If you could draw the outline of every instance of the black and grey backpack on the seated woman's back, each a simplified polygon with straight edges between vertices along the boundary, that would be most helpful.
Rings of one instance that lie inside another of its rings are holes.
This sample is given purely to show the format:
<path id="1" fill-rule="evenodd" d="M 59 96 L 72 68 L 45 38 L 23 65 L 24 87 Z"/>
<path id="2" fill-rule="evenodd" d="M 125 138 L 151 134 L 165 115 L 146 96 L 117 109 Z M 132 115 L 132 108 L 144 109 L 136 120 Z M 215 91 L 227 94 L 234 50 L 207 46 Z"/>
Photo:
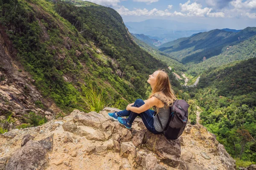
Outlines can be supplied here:
<path id="1" fill-rule="evenodd" d="M 175 100 L 171 107 L 169 121 L 165 129 L 163 129 L 163 125 L 157 114 L 157 119 L 160 122 L 160 125 L 163 129 L 163 134 L 164 136 L 166 136 L 167 139 L 178 139 L 180 135 L 183 133 L 188 122 L 188 108 L 189 104 L 185 102 L 185 100 Z"/>

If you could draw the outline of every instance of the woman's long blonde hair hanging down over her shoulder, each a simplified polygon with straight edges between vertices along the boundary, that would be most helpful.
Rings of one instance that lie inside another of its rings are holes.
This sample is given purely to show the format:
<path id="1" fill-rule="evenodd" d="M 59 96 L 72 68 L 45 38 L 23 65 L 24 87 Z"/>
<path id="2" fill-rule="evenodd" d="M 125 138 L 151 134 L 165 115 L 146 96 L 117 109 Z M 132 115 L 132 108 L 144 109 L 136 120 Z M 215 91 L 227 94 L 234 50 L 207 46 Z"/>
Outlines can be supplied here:
<path id="1" fill-rule="evenodd" d="M 164 70 L 157 70 L 159 72 L 156 80 L 154 89 L 148 97 L 150 99 L 152 96 L 155 96 L 160 101 L 166 104 L 166 107 L 172 106 L 173 102 L 177 99 L 173 90 L 171 83 L 169 81 L 169 76 Z M 164 94 L 162 95 L 161 92 Z M 158 113 L 158 108 L 157 108 Z"/>

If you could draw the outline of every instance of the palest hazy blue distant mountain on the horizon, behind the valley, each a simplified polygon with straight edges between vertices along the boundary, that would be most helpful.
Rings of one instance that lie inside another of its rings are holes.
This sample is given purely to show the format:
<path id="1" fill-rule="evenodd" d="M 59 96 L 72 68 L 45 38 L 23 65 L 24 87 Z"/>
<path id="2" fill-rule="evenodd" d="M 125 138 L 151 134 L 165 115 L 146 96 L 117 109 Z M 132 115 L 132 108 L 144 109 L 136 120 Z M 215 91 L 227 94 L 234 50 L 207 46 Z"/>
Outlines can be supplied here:
<path id="1" fill-rule="evenodd" d="M 197 23 L 180 23 L 172 20 L 145 20 L 142 22 L 127 22 L 126 27 L 131 33 L 144 34 L 160 42 L 170 42 L 181 37 L 209 31 L 212 26 Z"/>

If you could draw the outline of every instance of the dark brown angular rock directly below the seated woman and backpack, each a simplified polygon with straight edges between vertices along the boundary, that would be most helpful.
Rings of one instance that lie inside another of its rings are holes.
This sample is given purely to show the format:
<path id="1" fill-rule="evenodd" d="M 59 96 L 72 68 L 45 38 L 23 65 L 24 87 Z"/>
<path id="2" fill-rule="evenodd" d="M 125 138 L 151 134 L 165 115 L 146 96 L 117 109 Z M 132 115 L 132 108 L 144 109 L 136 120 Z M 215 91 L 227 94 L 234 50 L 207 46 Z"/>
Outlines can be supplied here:
<path id="1" fill-rule="evenodd" d="M 163 134 L 153 134 L 148 130 L 145 133 L 143 143 L 148 150 L 159 156 L 161 162 L 170 167 L 177 167 L 180 164 L 180 140 L 168 140 Z"/>

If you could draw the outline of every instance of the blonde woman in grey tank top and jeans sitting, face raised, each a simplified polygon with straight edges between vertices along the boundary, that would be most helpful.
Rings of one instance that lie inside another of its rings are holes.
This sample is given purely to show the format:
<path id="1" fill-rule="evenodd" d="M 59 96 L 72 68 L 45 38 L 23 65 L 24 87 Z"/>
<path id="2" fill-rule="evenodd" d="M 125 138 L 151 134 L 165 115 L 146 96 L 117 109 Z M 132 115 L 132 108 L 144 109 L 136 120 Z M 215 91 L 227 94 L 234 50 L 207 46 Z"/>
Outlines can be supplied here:
<path id="1" fill-rule="evenodd" d="M 149 75 L 147 82 L 153 90 L 147 100 L 137 99 L 134 103 L 127 105 L 125 110 L 108 113 L 108 115 L 128 129 L 131 128 L 134 119 L 140 116 L 149 131 L 161 133 L 168 123 L 169 106 L 176 100 L 176 96 L 171 88 L 168 74 L 163 70 L 155 71 Z M 149 109 L 151 107 L 154 108 L 154 111 Z M 156 114 L 159 115 L 163 129 Z M 128 118 L 123 119 L 121 116 L 128 116 Z"/>

